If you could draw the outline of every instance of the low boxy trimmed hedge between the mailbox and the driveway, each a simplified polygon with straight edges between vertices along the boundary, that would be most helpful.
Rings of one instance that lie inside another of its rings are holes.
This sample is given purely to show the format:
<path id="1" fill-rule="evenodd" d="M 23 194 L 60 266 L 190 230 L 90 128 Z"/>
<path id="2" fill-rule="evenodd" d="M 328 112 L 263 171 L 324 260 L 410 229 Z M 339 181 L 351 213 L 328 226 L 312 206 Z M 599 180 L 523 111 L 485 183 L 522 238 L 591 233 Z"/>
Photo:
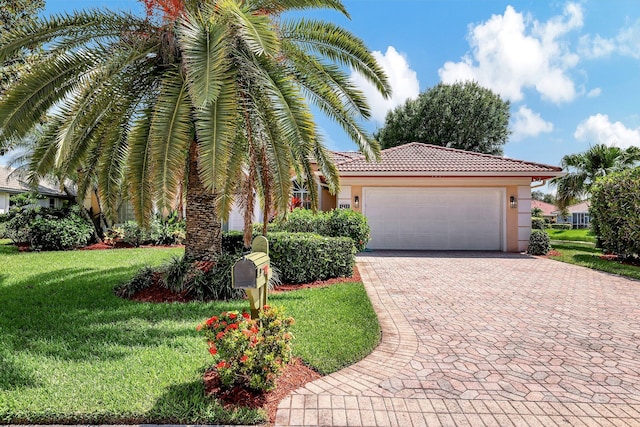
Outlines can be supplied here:
<path id="1" fill-rule="evenodd" d="M 270 233 L 271 264 L 285 283 L 308 283 L 353 274 L 356 249 L 348 237 Z"/>

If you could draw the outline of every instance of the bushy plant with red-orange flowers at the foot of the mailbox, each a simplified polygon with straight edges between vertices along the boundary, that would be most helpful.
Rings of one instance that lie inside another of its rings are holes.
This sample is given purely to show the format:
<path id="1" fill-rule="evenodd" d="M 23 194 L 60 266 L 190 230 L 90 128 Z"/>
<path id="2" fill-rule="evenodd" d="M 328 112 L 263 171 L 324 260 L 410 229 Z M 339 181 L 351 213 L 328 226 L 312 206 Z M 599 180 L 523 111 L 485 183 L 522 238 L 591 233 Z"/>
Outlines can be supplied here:
<path id="1" fill-rule="evenodd" d="M 264 306 L 258 319 L 246 312 L 223 312 L 197 329 L 204 333 L 225 387 L 271 390 L 291 357 L 292 317 L 280 307 Z"/>

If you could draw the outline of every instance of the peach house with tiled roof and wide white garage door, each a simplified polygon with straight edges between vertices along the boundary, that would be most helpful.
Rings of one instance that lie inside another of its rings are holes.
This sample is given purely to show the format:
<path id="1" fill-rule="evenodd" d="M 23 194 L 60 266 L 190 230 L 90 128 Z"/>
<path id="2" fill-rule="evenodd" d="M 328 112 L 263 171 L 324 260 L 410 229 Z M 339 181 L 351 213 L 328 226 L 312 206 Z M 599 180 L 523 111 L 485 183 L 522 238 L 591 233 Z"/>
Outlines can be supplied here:
<path id="1" fill-rule="evenodd" d="M 348 207 L 371 227 L 371 249 L 522 252 L 531 233 L 531 184 L 563 175 L 539 163 L 421 143 L 336 164 L 341 190 L 322 210 Z M 322 177 L 320 184 L 322 185 Z"/>

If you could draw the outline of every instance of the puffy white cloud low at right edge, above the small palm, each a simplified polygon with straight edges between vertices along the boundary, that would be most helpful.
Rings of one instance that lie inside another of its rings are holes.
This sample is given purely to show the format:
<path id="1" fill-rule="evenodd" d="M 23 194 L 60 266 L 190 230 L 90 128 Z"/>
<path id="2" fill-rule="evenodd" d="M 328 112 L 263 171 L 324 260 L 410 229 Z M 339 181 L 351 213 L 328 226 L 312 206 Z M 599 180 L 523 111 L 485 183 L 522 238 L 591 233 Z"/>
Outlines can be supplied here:
<path id="1" fill-rule="evenodd" d="M 573 136 L 590 144 L 640 147 L 640 128 L 630 129 L 621 122 L 611 123 L 606 114 L 596 114 L 580 122 Z"/>

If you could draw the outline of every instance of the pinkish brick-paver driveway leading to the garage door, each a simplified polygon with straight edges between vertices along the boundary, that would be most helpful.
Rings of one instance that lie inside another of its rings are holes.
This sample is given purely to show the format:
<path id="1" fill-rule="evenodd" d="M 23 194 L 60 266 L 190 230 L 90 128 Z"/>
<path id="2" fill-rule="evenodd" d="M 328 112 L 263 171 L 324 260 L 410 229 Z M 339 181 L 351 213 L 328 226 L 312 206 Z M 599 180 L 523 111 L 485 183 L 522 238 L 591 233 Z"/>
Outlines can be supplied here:
<path id="1" fill-rule="evenodd" d="M 383 328 L 277 425 L 640 426 L 640 282 L 501 253 L 358 256 Z"/>

